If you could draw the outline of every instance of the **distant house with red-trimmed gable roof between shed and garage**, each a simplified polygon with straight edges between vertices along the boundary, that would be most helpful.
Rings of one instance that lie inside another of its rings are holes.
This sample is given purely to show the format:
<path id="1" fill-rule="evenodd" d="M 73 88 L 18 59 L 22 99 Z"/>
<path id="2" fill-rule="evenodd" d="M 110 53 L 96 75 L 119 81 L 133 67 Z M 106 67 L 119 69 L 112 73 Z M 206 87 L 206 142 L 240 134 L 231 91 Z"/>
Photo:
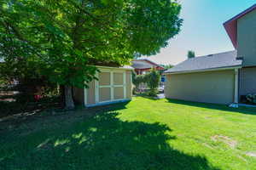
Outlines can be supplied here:
<path id="1" fill-rule="evenodd" d="M 131 63 L 131 66 L 134 68 L 137 75 L 146 74 L 152 68 L 155 68 L 157 71 L 165 70 L 163 66 L 158 65 L 149 59 L 134 59 L 131 61 Z"/>

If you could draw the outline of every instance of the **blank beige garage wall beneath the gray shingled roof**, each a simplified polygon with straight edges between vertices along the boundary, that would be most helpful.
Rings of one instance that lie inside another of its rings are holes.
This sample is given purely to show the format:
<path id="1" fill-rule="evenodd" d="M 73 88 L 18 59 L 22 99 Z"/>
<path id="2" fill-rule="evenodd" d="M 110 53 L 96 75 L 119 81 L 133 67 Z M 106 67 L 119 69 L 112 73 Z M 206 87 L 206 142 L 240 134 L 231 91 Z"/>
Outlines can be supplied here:
<path id="1" fill-rule="evenodd" d="M 207 71 L 166 76 L 166 98 L 204 103 L 234 101 L 235 71 Z"/>

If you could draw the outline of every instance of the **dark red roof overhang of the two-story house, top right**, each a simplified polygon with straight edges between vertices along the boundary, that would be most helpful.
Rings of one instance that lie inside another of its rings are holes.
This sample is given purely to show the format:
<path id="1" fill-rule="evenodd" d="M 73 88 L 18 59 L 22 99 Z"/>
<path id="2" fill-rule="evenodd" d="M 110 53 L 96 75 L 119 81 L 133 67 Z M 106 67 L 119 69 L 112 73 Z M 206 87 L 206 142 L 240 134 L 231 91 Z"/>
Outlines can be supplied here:
<path id="1" fill-rule="evenodd" d="M 237 20 L 243 17 L 244 15 L 252 12 L 254 9 L 256 9 L 256 4 L 254 4 L 250 8 L 247 8 L 245 11 L 241 12 L 240 14 L 237 14 L 235 17 L 224 23 L 224 28 L 228 32 L 231 42 L 233 43 L 235 48 L 237 48 Z"/>

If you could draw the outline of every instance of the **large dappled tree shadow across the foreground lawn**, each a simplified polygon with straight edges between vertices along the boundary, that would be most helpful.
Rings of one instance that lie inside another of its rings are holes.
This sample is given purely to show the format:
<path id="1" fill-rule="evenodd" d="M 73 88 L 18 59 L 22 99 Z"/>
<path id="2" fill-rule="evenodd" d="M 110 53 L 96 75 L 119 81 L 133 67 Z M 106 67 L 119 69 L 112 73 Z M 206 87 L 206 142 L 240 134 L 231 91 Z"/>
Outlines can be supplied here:
<path id="1" fill-rule="evenodd" d="M 175 150 L 172 129 L 160 123 L 124 122 L 119 113 L 104 112 L 85 122 L 34 133 L 0 147 L 3 169 L 166 169 L 212 167 L 204 156 Z"/>

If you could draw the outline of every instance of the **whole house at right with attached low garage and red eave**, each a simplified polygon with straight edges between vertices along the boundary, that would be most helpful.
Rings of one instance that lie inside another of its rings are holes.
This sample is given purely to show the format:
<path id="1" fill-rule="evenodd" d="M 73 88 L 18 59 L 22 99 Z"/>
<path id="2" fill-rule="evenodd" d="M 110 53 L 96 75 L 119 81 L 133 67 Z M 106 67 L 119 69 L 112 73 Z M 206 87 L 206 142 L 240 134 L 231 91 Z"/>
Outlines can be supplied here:
<path id="1" fill-rule="evenodd" d="M 165 71 L 166 98 L 231 104 L 256 94 L 256 4 L 224 28 L 236 50 L 187 59 Z"/>

